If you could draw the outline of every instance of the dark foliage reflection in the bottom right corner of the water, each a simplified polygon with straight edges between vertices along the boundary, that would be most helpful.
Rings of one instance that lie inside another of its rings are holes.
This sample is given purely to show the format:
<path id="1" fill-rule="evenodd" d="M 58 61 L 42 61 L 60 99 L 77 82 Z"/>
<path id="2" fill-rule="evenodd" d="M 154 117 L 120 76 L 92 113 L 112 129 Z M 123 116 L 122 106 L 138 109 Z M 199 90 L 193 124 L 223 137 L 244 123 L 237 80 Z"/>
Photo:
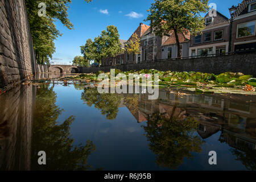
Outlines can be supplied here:
<path id="1" fill-rule="evenodd" d="M 237 149 L 231 149 L 230 151 L 237 157 L 236 160 L 241 160 L 246 169 L 253 171 L 256 170 L 256 152 L 254 150 L 242 152 Z"/>

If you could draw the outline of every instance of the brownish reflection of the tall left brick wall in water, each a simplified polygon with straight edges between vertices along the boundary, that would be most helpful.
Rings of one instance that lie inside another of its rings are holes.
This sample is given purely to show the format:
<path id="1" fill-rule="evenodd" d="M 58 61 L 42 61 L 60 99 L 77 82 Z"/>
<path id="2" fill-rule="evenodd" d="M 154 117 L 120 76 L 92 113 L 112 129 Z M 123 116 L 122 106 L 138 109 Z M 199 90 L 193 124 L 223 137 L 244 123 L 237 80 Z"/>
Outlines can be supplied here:
<path id="1" fill-rule="evenodd" d="M 35 86 L 0 96 L 0 170 L 30 169 Z"/>

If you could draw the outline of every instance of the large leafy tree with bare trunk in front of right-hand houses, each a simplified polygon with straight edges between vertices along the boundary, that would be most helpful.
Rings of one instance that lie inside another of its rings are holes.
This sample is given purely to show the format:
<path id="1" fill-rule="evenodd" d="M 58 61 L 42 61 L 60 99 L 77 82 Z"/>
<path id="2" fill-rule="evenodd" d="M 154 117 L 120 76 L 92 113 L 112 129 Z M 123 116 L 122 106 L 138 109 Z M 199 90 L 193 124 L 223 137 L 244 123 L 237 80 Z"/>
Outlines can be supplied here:
<path id="1" fill-rule="evenodd" d="M 155 0 L 146 20 L 153 20 L 156 35 L 170 35 L 174 31 L 177 43 L 177 56 L 181 57 L 179 34 L 196 35 L 205 28 L 201 13 L 209 10 L 209 0 Z"/>

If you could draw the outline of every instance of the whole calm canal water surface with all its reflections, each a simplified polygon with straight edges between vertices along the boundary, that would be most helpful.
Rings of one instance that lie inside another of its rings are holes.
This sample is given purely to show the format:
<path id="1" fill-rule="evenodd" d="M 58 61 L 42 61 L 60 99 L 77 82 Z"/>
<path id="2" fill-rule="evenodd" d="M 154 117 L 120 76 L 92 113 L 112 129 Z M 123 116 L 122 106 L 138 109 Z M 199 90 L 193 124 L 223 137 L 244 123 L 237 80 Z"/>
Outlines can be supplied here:
<path id="1" fill-rule="evenodd" d="M 0 169 L 255 170 L 256 97 L 160 89 L 148 100 L 75 81 L 17 86 L 0 96 Z"/>

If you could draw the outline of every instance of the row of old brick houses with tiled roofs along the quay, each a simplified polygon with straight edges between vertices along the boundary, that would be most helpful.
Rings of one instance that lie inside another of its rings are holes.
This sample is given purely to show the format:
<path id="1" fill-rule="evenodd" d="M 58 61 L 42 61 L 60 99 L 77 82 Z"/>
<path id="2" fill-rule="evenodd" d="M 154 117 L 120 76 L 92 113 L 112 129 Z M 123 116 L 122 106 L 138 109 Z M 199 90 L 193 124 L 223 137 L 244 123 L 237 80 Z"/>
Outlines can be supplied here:
<path id="1" fill-rule="evenodd" d="M 181 58 L 222 55 L 229 52 L 256 50 L 256 0 L 243 0 L 238 6 L 230 9 L 231 18 L 217 10 L 210 10 L 205 15 L 205 29 L 193 36 L 188 32 L 179 34 Z M 177 58 L 175 34 L 157 36 L 154 28 L 140 23 L 135 34 L 141 40 L 141 53 L 134 55 L 125 51 L 127 42 L 122 40 L 124 53 L 107 57 L 102 66 L 135 64 L 143 61 L 156 61 Z"/>

